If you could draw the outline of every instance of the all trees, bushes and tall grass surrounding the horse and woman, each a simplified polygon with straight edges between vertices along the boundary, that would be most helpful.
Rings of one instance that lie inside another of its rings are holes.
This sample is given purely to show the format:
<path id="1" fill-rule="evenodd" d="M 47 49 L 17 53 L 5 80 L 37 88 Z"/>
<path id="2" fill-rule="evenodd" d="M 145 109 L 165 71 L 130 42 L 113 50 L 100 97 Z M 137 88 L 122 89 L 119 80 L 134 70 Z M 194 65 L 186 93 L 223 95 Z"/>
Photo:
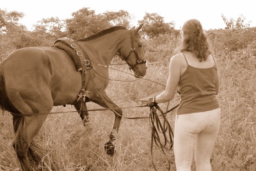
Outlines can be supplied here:
<path id="1" fill-rule="evenodd" d="M 123 25 L 131 27 L 127 11 L 95 14 L 82 8 L 73 18 L 43 18 L 29 31 L 18 23 L 22 12 L 0 9 L 0 61 L 13 50 L 32 46 L 51 46 L 57 38 L 83 38 L 100 30 Z M 221 128 L 211 156 L 212 170 L 256 170 L 255 103 L 256 103 L 256 28 L 244 23 L 245 17 L 227 19 L 225 29 L 207 30 L 220 70 Z M 145 23 L 141 34 L 147 74 L 136 80 L 126 65 L 112 66 L 107 92 L 121 107 L 141 105 L 139 99 L 163 90 L 168 76 L 168 63 L 179 42 L 175 23 L 164 23 L 156 13 L 146 13 L 138 23 Z M 115 57 L 112 63 L 122 63 Z M 117 69 L 117 70 L 114 70 Z M 151 81 L 150 81 L 151 80 Z M 179 103 L 179 95 L 168 109 Z M 166 110 L 167 104 L 161 104 Z M 88 109 L 99 109 L 89 102 Z M 90 122 L 84 127 L 73 106 L 55 106 L 35 140 L 46 149 L 41 170 L 175 170 L 173 149 L 166 151 L 154 146 L 151 155 L 151 126 L 148 119 L 122 119 L 119 134 L 115 134 L 116 153 L 104 152 L 104 143 L 112 131 L 114 114 L 110 111 L 90 112 Z M 12 117 L 0 110 L 0 170 L 20 170 L 11 142 L 14 138 Z M 174 127 L 176 110 L 167 114 Z M 123 110 L 124 117 L 149 116 L 148 107 Z M 196 170 L 193 162 L 192 170 Z"/>

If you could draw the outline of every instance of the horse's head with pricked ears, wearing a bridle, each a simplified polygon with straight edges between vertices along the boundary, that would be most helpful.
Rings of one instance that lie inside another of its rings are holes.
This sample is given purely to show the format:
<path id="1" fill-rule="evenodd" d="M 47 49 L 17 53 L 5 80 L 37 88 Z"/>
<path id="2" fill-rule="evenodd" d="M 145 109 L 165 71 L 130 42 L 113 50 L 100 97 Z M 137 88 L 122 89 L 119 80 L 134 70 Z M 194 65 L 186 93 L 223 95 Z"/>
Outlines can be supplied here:
<path id="1" fill-rule="evenodd" d="M 130 32 L 127 38 L 122 42 L 119 49 L 119 56 L 129 65 L 130 70 L 133 70 L 135 77 L 143 77 L 146 74 L 146 59 L 143 55 L 141 36 L 139 30 L 143 24 L 137 29 L 127 30 Z M 127 33 L 126 33 L 127 34 Z"/>

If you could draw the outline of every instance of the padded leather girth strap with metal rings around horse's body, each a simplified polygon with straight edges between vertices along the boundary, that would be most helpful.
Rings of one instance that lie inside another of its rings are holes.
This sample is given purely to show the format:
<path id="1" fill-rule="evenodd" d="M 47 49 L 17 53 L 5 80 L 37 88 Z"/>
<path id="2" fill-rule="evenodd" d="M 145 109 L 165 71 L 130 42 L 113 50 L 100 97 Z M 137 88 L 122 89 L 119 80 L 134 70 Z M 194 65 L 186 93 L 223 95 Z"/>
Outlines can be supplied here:
<path id="1" fill-rule="evenodd" d="M 54 45 L 52 47 L 56 47 L 67 52 L 73 60 L 76 70 L 81 71 L 82 88 L 78 94 L 77 101 L 82 100 L 85 102 L 89 93 L 86 91 L 86 71 L 93 68 L 88 54 L 71 38 L 60 38 L 53 44 Z"/>

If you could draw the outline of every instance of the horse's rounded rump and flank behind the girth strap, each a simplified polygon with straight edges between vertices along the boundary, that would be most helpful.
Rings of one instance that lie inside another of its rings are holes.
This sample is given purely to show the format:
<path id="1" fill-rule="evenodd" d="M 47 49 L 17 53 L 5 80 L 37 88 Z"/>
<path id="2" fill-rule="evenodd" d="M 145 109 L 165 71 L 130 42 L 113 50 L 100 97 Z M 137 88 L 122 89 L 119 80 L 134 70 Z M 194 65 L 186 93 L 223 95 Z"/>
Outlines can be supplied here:
<path id="1" fill-rule="evenodd" d="M 6 94 L 21 113 L 49 112 L 55 103 L 74 101 L 75 93 L 70 90 L 65 95 L 65 91 L 72 87 L 79 91 L 74 84 L 79 74 L 72 60 L 57 48 L 16 50 L 0 63 L 0 70 Z"/>

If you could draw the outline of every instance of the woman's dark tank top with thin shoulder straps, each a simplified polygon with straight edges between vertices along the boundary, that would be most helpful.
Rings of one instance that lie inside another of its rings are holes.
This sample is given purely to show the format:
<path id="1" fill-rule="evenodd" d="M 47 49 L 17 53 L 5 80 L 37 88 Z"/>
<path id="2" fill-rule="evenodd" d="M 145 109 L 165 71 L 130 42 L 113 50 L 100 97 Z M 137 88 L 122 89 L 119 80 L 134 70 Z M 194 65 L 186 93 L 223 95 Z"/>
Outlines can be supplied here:
<path id="1" fill-rule="evenodd" d="M 182 55 L 187 62 L 187 68 L 180 76 L 178 84 L 181 101 L 177 114 L 205 112 L 220 108 L 215 92 L 216 63 L 210 68 L 195 68 L 188 65 L 185 55 L 183 53 Z"/>

